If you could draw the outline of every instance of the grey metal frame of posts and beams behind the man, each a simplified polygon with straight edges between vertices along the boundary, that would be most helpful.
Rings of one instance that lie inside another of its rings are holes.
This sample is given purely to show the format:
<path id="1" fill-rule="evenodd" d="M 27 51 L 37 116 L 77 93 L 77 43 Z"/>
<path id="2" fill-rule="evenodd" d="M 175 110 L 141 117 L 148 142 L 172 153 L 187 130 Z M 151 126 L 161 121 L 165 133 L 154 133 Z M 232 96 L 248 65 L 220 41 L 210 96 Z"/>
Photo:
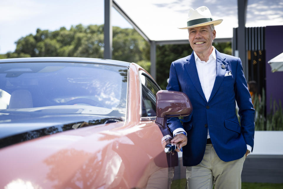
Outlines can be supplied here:
<path id="1" fill-rule="evenodd" d="M 238 55 L 242 59 L 244 74 L 248 80 L 248 64 L 246 63 L 246 48 L 245 48 L 245 24 L 246 24 L 246 9 L 248 0 L 238 0 L 238 32 L 237 41 L 233 41 L 232 38 L 219 38 L 214 42 L 228 42 L 237 43 Z M 149 37 L 135 24 L 135 22 L 121 9 L 121 7 L 114 0 L 104 0 L 104 58 L 112 58 L 112 26 L 111 26 L 111 7 L 114 7 L 132 26 L 133 28 L 150 43 L 150 74 L 156 79 L 156 45 L 165 44 L 189 44 L 189 40 L 150 40 Z M 233 45 L 232 45 L 233 47 Z M 233 52 L 234 53 L 234 52 Z"/>

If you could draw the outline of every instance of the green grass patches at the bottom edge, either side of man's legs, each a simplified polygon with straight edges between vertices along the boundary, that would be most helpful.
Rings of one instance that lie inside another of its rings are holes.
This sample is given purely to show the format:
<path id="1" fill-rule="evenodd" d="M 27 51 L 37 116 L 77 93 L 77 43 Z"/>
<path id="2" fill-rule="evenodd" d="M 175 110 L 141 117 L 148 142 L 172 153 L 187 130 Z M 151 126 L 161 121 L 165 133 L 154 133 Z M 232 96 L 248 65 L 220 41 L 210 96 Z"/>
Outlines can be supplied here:
<path id="1" fill-rule="evenodd" d="M 186 179 L 173 180 L 171 189 L 185 188 Z M 242 189 L 283 189 L 283 183 L 242 183 Z"/>

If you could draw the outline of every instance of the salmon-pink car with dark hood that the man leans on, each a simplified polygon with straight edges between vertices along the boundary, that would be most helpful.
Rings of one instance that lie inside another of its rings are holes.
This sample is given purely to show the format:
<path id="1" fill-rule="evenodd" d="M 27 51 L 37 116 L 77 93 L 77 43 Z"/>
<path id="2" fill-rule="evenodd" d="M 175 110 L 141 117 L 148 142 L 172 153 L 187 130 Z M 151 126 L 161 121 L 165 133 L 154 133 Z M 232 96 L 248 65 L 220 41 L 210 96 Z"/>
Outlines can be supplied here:
<path id="1" fill-rule="evenodd" d="M 192 107 L 159 90 L 135 63 L 1 59 L 0 188 L 170 188 L 166 118 Z"/>

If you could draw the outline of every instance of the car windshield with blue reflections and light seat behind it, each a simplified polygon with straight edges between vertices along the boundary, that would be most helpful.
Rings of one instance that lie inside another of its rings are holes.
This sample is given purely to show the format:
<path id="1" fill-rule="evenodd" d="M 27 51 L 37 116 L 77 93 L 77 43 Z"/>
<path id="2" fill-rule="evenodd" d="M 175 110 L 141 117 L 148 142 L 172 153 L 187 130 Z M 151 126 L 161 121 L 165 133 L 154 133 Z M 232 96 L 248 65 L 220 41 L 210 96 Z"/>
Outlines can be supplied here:
<path id="1" fill-rule="evenodd" d="M 0 109 L 125 118 L 128 68 L 71 62 L 0 64 Z"/>

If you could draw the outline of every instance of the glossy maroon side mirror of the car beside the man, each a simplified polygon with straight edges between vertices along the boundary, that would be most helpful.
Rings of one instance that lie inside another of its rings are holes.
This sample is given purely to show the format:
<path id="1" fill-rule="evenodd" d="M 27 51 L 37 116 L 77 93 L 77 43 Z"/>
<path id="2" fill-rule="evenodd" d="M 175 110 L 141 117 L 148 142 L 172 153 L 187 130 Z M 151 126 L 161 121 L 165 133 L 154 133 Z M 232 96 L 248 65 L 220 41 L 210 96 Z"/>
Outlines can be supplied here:
<path id="1" fill-rule="evenodd" d="M 192 104 L 187 94 L 160 90 L 156 93 L 155 122 L 167 128 L 167 117 L 187 116 L 192 113 Z"/>

